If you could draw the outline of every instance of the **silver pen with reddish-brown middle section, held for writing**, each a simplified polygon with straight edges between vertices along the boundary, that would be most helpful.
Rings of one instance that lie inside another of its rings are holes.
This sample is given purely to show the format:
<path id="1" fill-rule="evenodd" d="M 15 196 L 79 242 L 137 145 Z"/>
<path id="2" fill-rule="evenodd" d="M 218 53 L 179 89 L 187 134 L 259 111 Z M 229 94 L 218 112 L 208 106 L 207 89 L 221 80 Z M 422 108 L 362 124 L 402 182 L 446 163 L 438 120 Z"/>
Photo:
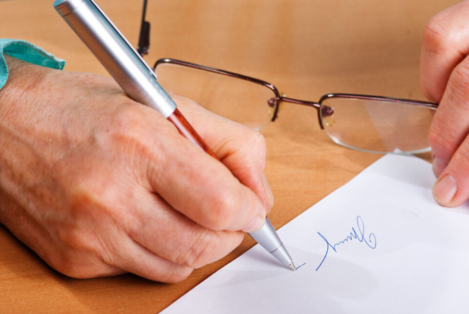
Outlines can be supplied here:
<path id="1" fill-rule="evenodd" d="M 117 27 L 93 0 L 55 0 L 54 8 L 83 40 L 107 72 L 129 98 L 147 105 L 169 119 L 179 132 L 216 158 L 192 126 L 177 110 L 176 103 L 156 81 L 149 65 L 130 45 Z M 292 257 L 269 219 L 264 226 L 249 234 L 283 265 L 296 270 Z"/>

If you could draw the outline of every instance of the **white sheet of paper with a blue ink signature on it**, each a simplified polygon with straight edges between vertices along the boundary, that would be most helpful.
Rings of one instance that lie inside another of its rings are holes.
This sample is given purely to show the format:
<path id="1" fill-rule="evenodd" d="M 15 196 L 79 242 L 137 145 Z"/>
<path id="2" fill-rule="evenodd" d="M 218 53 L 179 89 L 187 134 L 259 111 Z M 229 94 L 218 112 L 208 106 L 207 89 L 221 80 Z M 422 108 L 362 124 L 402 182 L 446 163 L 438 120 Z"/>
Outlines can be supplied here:
<path id="1" fill-rule="evenodd" d="M 384 156 L 278 230 L 297 271 L 256 245 L 164 313 L 468 313 L 469 206 L 437 205 L 434 181 Z"/>

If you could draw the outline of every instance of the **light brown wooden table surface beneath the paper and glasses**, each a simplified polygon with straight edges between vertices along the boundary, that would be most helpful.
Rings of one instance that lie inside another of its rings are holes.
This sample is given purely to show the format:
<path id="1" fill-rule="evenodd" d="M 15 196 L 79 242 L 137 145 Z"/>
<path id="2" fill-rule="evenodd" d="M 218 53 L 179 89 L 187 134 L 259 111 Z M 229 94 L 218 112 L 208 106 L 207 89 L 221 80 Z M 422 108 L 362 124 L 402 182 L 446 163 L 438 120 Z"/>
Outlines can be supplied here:
<path id="1" fill-rule="evenodd" d="M 97 0 L 135 45 L 142 2 Z M 456 2 L 149 0 L 152 32 L 145 59 L 182 59 L 243 73 L 272 82 L 293 98 L 318 100 L 344 92 L 424 99 L 422 30 L 429 18 Z M 43 47 L 65 59 L 67 71 L 107 75 L 52 3 L 0 1 L 1 37 Z M 275 228 L 381 157 L 334 144 L 320 129 L 316 111 L 294 104 L 286 104 L 262 133 Z M 83 280 L 52 270 L 0 224 L 0 312 L 159 312 L 253 245 L 246 236 L 230 255 L 179 284 L 135 275 Z"/>

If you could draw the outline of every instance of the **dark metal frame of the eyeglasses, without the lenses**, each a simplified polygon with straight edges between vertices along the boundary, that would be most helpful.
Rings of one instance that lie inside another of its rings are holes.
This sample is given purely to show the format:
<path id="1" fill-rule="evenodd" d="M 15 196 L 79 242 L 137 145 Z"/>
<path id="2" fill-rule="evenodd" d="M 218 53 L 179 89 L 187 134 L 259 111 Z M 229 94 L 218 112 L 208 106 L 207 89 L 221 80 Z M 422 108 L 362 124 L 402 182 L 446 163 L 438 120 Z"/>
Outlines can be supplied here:
<path id="1" fill-rule="evenodd" d="M 144 0 L 142 24 L 140 28 L 140 37 L 139 37 L 139 44 L 138 44 L 138 49 L 137 49 L 138 53 L 140 53 L 142 57 L 148 54 L 148 50 L 149 50 L 150 24 L 148 21 L 145 20 L 146 9 L 147 9 L 147 0 Z M 271 118 L 272 122 L 277 119 L 277 114 L 278 114 L 278 110 L 280 107 L 280 103 L 289 102 L 289 103 L 295 103 L 295 104 L 300 104 L 300 105 L 305 105 L 305 106 L 316 108 L 318 111 L 318 120 L 319 120 L 320 127 L 321 129 L 324 129 L 321 116 L 327 117 L 333 114 L 333 109 L 331 107 L 328 107 L 322 104 L 322 102 L 328 98 L 353 98 L 353 99 L 362 99 L 362 100 L 377 100 L 377 101 L 385 101 L 385 102 L 393 102 L 393 103 L 405 103 L 405 104 L 422 106 L 422 107 L 427 107 L 427 108 L 432 108 L 432 109 L 438 108 L 438 103 L 422 101 L 422 100 L 392 98 L 392 97 L 372 96 L 372 95 L 360 95 L 360 94 L 343 94 L 343 93 L 331 93 L 331 94 L 323 95 L 318 102 L 300 100 L 296 98 L 289 98 L 289 97 L 286 97 L 285 95 L 280 95 L 277 87 L 275 87 L 273 84 L 269 82 L 266 82 L 258 78 L 252 78 L 252 77 L 245 76 L 242 74 L 237 74 L 237 73 L 230 72 L 230 71 L 220 70 L 217 68 L 212 68 L 212 67 L 208 67 L 205 65 L 195 64 L 195 63 L 176 60 L 176 59 L 163 58 L 163 59 L 157 60 L 153 66 L 153 71 L 155 71 L 156 67 L 159 64 L 163 64 L 163 63 L 176 64 L 176 65 L 186 66 L 186 67 L 204 70 L 204 71 L 208 71 L 212 73 L 217 73 L 221 75 L 226 75 L 232 78 L 239 78 L 239 79 L 247 80 L 252 83 L 259 84 L 259 85 L 269 88 L 275 94 L 275 98 L 268 99 L 269 106 L 274 108 L 274 114 Z"/>

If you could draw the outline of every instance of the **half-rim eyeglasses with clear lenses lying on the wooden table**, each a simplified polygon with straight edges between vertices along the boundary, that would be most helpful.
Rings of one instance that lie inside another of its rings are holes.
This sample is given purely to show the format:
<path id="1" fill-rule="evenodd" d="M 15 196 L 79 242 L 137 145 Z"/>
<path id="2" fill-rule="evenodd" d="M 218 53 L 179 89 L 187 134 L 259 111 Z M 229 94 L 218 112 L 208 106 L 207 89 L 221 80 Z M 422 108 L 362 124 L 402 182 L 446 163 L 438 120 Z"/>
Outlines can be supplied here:
<path id="1" fill-rule="evenodd" d="M 144 0 L 138 52 L 149 49 Z M 158 82 L 170 94 L 257 130 L 275 121 L 285 103 L 313 107 L 321 129 L 337 144 L 371 153 L 430 151 L 427 134 L 437 103 L 355 94 L 326 94 L 319 101 L 286 97 L 266 81 L 175 59 L 154 64 Z"/>

